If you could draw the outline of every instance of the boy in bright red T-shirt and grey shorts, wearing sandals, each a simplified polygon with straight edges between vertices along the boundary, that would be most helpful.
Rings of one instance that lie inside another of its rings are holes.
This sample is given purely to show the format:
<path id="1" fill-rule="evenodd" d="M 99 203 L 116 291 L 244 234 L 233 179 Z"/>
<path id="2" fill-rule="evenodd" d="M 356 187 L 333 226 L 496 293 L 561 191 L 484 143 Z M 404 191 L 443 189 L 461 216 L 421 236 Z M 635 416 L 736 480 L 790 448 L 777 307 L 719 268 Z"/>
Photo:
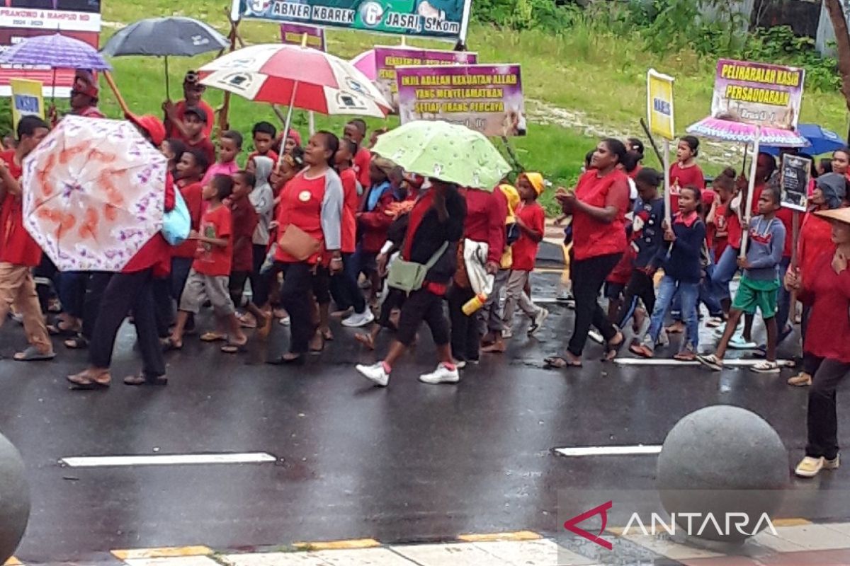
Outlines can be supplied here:
<path id="1" fill-rule="evenodd" d="M 216 175 L 204 185 L 203 198 L 209 205 L 201 217 L 200 233 L 193 230 L 189 237 L 198 243 L 195 261 L 189 273 L 189 280 L 177 314 L 177 323 L 171 335 L 171 347 L 179 350 L 183 347 L 183 333 L 189 314 L 198 314 L 204 296 L 212 302 L 218 324 L 228 328 L 228 332 L 207 332 L 201 335 L 205 342 L 227 339 L 222 347 L 227 353 L 244 350 L 248 341 L 236 320 L 236 310 L 230 300 L 228 279 L 233 261 L 233 221 L 230 210 L 224 205 L 224 199 L 233 193 L 233 179 L 226 175 Z"/>

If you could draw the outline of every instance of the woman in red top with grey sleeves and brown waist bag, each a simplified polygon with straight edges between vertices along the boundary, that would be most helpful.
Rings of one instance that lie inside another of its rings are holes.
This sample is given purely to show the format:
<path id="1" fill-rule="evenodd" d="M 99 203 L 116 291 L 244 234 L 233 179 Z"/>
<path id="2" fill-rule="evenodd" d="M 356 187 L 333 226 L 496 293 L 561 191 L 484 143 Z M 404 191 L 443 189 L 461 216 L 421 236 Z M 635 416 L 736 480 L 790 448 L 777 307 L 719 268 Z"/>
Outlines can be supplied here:
<path id="1" fill-rule="evenodd" d="M 304 362 L 309 350 L 310 338 L 314 335 L 311 320 L 313 311 L 307 298 L 311 291 L 326 294 L 326 287 L 316 286 L 315 273 L 323 261 L 327 262 L 331 274 L 343 270 L 342 218 L 343 184 L 333 170 L 334 156 L 339 149 L 339 139 L 331 132 L 316 132 L 304 149 L 303 171 L 299 172 L 280 192 L 280 207 L 277 217 L 278 246 L 275 250 L 275 265 L 284 274 L 280 302 L 289 313 L 291 338 L 289 351 L 269 363 L 298 364 Z M 312 238 L 315 251 L 306 258 L 296 256 L 297 249 L 284 249 L 280 245 L 286 239 L 286 230 L 295 227 L 299 236 Z M 323 287 L 323 289 L 319 289 Z M 321 304 L 325 300 L 316 296 Z M 328 300 L 330 298 L 328 297 Z"/>

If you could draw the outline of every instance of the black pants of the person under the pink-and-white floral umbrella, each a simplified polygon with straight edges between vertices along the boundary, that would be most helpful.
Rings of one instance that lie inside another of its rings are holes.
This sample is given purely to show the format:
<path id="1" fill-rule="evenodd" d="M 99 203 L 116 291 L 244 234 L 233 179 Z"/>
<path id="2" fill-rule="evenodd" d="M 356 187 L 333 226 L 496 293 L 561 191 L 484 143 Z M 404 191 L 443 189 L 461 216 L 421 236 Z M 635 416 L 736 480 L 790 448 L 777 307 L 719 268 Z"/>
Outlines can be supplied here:
<path id="1" fill-rule="evenodd" d="M 100 301 L 100 313 L 94 324 L 88 362 L 94 367 L 110 367 L 118 328 L 133 309 L 144 377 L 165 375 L 162 347 L 156 333 L 154 314 L 153 270 L 114 274 Z"/>

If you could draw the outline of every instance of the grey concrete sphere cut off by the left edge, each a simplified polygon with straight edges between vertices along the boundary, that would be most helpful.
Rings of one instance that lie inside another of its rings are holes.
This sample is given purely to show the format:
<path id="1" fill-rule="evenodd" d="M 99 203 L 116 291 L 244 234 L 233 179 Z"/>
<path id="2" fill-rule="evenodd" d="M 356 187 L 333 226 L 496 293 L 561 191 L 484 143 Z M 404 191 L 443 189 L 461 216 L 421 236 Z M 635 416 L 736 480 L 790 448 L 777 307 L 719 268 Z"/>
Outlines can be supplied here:
<path id="1" fill-rule="evenodd" d="M 0 434 L 0 564 L 18 548 L 30 519 L 30 486 L 24 461 Z"/>

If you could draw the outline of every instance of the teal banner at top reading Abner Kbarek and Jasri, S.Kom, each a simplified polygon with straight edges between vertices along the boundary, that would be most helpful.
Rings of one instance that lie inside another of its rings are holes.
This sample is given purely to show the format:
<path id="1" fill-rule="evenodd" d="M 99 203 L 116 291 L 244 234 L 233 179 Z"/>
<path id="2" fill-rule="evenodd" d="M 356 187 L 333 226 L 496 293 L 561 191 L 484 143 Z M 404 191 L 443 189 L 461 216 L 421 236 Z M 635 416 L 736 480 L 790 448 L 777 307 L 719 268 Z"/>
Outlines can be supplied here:
<path id="1" fill-rule="evenodd" d="M 286 21 L 405 36 L 462 39 L 472 0 L 233 0 L 233 20 Z"/>

